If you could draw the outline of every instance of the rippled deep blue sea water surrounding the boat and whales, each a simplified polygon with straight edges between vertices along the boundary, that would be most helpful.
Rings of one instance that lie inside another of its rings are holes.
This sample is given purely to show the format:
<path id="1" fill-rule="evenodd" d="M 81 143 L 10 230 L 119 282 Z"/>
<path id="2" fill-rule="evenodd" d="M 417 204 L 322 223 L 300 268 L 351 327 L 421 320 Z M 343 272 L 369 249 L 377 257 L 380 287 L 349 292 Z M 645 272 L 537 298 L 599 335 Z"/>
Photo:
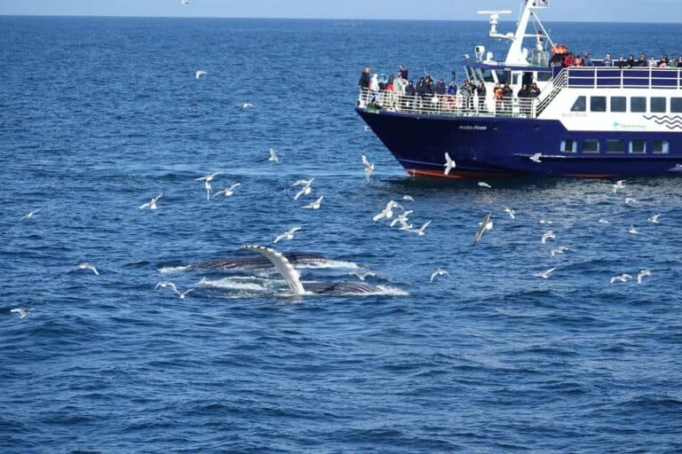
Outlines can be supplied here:
<path id="1" fill-rule="evenodd" d="M 550 28 L 596 57 L 682 52 L 678 25 Z M 448 77 L 487 30 L 0 17 L 0 451 L 682 451 L 680 180 L 412 179 L 353 112 L 361 67 Z M 207 202 L 195 178 L 216 171 L 242 186 Z M 423 237 L 372 222 L 405 194 Z M 275 247 L 388 290 L 294 299 L 275 273 L 169 272 L 294 226 Z"/>

